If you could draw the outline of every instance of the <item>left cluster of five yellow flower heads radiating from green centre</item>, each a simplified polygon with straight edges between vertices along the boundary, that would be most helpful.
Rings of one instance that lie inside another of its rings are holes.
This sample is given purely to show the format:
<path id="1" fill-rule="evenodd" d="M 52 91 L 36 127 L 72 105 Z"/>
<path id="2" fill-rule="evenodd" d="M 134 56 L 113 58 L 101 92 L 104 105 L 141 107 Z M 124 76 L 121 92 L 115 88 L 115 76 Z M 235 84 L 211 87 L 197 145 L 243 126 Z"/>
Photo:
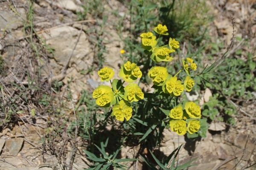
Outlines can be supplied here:
<path id="1" fill-rule="evenodd" d="M 108 82 L 114 76 L 114 71 L 112 68 L 102 68 L 98 71 L 98 75 L 101 81 Z M 117 86 L 117 79 L 114 79 L 115 85 L 111 82 L 112 88 L 106 85 L 99 85 L 93 91 L 93 98 L 96 99 L 96 104 L 101 107 L 110 107 L 113 105 L 111 116 L 119 121 L 124 121 L 124 118 L 128 121 L 132 116 L 132 108 L 128 102 L 138 102 L 141 99 L 144 99 L 144 93 L 140 87 L 132 83 L 138 78 L 142 77 L 142 72 L 140 68 L 131 62 L 126 62 L 121 66 L 119 72 L 119 77 L 123 78 L 123 82 L 128 82 L 125 88 L 119 84 Z M 121 80 L 120 80 L 121 81 Z"/>

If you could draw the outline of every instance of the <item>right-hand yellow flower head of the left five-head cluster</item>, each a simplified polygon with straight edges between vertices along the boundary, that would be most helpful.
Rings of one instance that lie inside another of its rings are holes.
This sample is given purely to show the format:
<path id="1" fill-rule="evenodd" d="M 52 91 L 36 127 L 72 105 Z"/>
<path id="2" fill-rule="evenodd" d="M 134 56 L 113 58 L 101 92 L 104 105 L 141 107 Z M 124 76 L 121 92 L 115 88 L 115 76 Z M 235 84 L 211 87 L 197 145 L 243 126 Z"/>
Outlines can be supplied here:
<path id="1" fill-rule="evenodd" d="M 144 99 L 144 94 L 137 84 L 130 83 L 125 87 L 123 99 L 128 102 L 138 102 L 140 99 Z"/>

